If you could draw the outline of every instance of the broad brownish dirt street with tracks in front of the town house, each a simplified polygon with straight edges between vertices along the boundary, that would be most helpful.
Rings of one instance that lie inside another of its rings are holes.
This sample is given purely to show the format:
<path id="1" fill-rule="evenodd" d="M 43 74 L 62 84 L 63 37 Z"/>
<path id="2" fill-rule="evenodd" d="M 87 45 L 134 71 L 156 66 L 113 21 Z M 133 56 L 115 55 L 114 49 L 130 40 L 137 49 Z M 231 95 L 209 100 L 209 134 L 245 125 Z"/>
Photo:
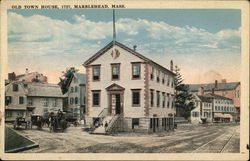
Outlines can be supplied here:
<path id="1" fill-rule="evenodd" d="M 120 133 L 93 135 L 82 127 L 69 127 L 64 133 L 19 130 L 39 148 L 24 153 L 239 153 L 239 125 L 179 125 L 175 132 L 157 134 Z"/>

